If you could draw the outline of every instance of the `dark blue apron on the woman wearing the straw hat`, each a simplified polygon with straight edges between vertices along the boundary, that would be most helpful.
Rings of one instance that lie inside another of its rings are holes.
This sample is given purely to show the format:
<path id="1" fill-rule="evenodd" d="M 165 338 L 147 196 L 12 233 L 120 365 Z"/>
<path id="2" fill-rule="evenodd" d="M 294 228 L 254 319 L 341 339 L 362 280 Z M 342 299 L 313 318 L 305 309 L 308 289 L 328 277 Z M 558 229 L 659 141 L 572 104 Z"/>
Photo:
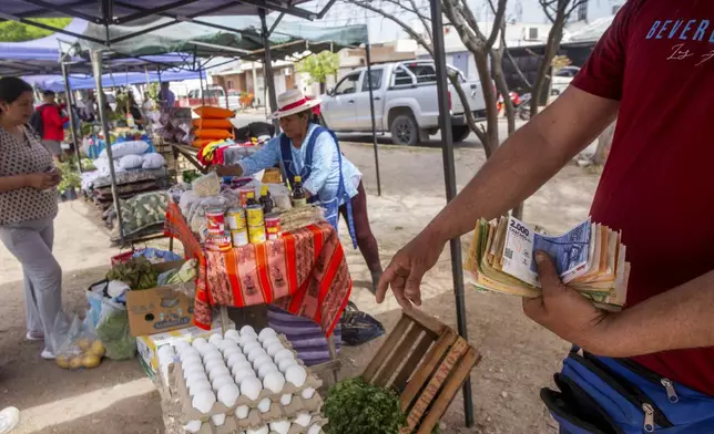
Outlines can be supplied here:
<path id="1" fill-rule="evenodd" d="M 300 176 L 304 180 L 308 179 L 310 173 L 313 172 L 313 153 L 315 151 L 315 143 L 317 142 L 317 137 L 324 133 L 330 134 L 335 140 L 335 145 L 337 146 L 337 161 L 339 164 L 339 186 L 337 187 L 337 195 L 334 198 L 323 198 L 318 192 L 318 194 L 313 195 L 309 198 L 309 203 L 318 203 L 325 209 L 325 218 L 327 219 L 327 221 L 333 225 L 335 230 L 338 230 L 339 202 L 340 199 L 344 200 L 347 207 L 347 227 L 349 229 L 349 236 L 353 239 L 353 247 L 357 248 L 357 237 L 355 236 L 355 220 L 353 218 L 353 200 L 345 189 L 345 179 L 343 177 L 343 153 L 339 149 L 339 142 L 337 141 L 335 133 L 322 126 L 315 128 L 315 131 L 310 135 L 310 138 L 307 141 L 305 164 L 303 165 L 303 169 L 299 173 L 295 172 L 293 153 L 290 151 L 290 147 L 293 146 L 290 144 L 290 140 L 285 135 L 285 133 L 280 134 L 280 159 L 283 161 L 283 167 L 287 176 L 287 182 L 290 185 L 290 189 L 295 187 L 295 176 Z"/>

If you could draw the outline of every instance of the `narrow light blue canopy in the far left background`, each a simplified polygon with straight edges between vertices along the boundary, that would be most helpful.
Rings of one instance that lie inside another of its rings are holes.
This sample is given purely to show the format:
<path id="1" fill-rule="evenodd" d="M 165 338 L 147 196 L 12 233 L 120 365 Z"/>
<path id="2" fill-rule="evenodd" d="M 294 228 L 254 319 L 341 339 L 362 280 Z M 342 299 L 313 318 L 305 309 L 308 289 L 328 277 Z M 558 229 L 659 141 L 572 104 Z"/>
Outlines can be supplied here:
<path id="1" fill-rule="evenodd" d="M 70 89 L 73 91 L 82 89 L 94 89 L 96 82 L 93 76 L 70 76 Z M 120 87 L 130 84 L 145 84 L 157 83 L 160 81 L 184 81 L 184 80 L 198 80 L 206 79 L 205 72 L 193 71 L 162 71 L 161 75 L 156 72 L 130 72 L 130 73 L 113 73 L 102 75 L 102 85 L 104 87 Z M 40 75 L 29 76 L 26 81 L 34 84 L 42 90 L 54 92 L 64 92 L 64 80 L 61 75 Z"/>

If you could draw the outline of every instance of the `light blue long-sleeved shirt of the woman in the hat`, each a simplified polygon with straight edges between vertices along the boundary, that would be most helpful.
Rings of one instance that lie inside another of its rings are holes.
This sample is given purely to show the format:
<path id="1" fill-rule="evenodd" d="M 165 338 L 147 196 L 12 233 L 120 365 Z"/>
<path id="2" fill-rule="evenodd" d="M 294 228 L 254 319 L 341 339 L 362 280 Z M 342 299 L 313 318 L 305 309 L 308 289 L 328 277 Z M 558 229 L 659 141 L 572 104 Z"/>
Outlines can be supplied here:
<path id="1" fill-rule="evenodd" d="M 307 144 L 312 134 L 318 125 L 310 124 L 303 144 Z M 292 143 L 293 141 L 290 141 Z M 305 153 L 307 146 L 296 148 L 290 146 L 295 173 L 300 173 L 305 165 Z M 248 176 L 264 168 L 274 167 L 280 161 L 280 137 L 271 138 L 261 151 L 249 157 L 241 159 L 237 164 L 243 168 L 243 174 Z M 345 192 L 351 198 L 357 195 L 357 186 L 361 179 L 361 172 L 343 155 L 343 177 L 345 179 Z M 303 182 L 303 187 L 312 195 L 318 195 L 320 200 L 332 200 L 337 196 L 339 186 L 339 159 L 337 144 L 332 135 L 323 133 L 315 142 L 313 155 L 313 167 L 309 178 Z M 340 200 L 340 205 L 344 200 Z"/>

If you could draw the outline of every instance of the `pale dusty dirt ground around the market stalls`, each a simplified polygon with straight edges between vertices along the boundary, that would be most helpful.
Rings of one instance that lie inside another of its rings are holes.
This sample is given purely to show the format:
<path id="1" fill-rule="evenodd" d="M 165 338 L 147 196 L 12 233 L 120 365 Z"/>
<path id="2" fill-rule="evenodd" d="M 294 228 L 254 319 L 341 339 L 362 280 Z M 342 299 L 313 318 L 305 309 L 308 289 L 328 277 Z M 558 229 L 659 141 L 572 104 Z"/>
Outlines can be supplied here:
<path id="1" fill-rule="evenodd" d="M 380 146 L 379 197 L 371 146 L 344 144 L 343 148 L 364 172 L 370 221 L 386 265 L 445 205 L 441 151 Z M 456 159 L 462 187 L 484 157 L 481 149 L 469 146 L 457 149 Z M 568 229 L 586 218 L 596 182 L 595 175 L 565 167 L 527 202 L 526 220 L 551 232 Z M 118 252 L 109 247 L 106 232 L 93 215 L 88 205 L 75 202 L 62 204 L 55 220 L 55 256 L 64 270 L 64 307 L 72 312 L 86 309 L 83 292 L 103 278 L 109 258 Z M 463 248 L 468 239 L 465 241 Z M 347 255 L 355 280 L 353 301 L 391 329 L 400 316 L 397 303 L 388 299 L 377 306 L 367 291 L 369 273 L 359 252 L 348 249 Z M 104 361 L 95 370 L 68 372 L 41 360 L 41 344 L 24 341 L 21 270 L 1 246 L 0 276 L 0 407 L 14 405 L 22 411 L 18 434 L 163 432 L 159 394 L 136 361 Z M 450 326 L 456 324 L 452 288 L 447 249 L 424 282 L 424 309 Z M 472 373 L 477 425 L 465 427 L 459 396 L 443 417 L 441 432 L 554 432 L 539 391 L 550 384 L 568 344 L 524 318 L 519 299 L 467 288 L 466 303 L 469 341 L 483 355 Z M 346 349 L 340 355 L 345 364 L 341 375 L 360 373 L 381 341 Z"/>

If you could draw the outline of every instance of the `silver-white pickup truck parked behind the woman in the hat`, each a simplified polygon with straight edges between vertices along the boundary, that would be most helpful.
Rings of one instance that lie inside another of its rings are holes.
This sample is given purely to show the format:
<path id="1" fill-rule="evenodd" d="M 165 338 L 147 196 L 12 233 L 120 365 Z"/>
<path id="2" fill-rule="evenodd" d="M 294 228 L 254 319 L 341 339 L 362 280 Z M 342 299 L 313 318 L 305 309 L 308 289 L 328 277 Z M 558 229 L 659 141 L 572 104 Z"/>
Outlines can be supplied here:
<path id="1" fill-rule="evenodd" d="M 476 118 L 486 117 L 481 83 L 467 82 L 459 70 L 449 69 L 458 74 Z M 378 64 L 371 68 L 371 76 L 377 132 L 391 133 L 391 141 L 397 145 L 416 145 L 439 131 L 434 61 Z M 322 122 L 330 130 L 339 133 L 371 132 L 366 68 L 345 75 L 320 99 Z M 461 100 L 451 85 L 449 101 L 453 141 L 462 142 L 471 131 Z"/>

